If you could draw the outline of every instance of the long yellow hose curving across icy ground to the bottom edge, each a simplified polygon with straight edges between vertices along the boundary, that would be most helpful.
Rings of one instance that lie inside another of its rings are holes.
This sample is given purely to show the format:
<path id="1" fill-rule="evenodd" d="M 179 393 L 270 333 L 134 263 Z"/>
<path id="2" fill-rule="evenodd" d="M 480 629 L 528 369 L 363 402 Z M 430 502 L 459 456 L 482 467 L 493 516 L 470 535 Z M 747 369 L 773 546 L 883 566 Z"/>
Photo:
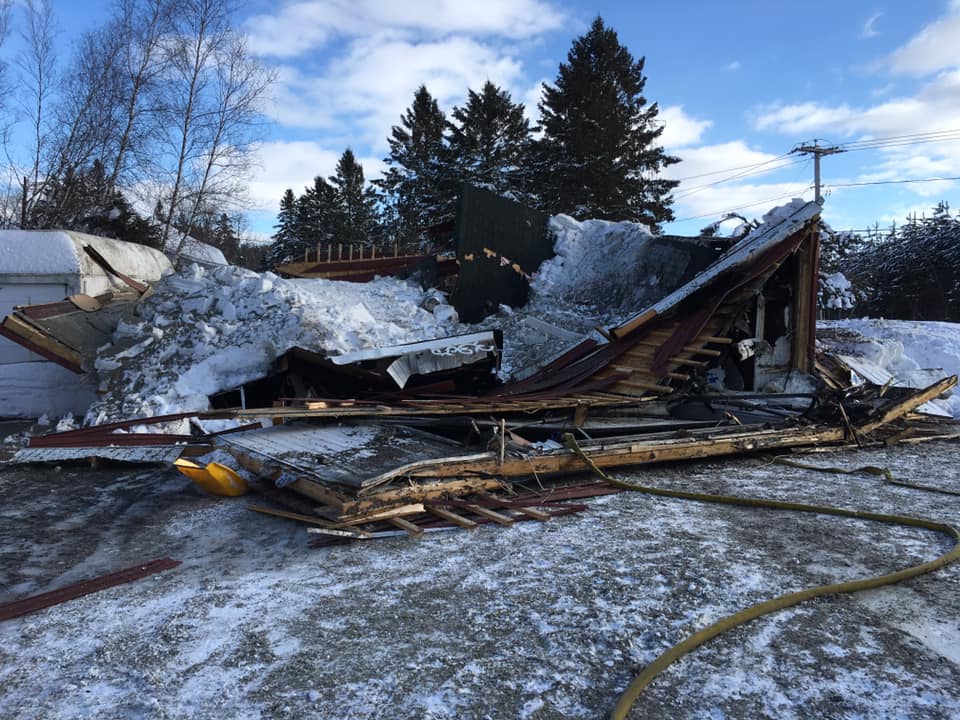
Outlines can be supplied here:
<path id="1" fill-rule="evenodd" d="M 671 663 L 683 657 L 690 651 L 700 647 L 708 640 L 712 640 L 717 635 L 726 632 L 727 630 L 735 628 L 739 625 L 743 625 L 750 620 L 755 620 L 763 615 L 797 605 L 804 600 L 812 600 L 813 598 L 821 597 L 823 595 L 852 593 L 859 590 L 869 590 L 872 588 L 881 587 L 883 585 L 891 585 L 893 583 L 900 582 L 901 580 L 907 580 L 918 575 L 923 575 L 924 573 L 932 572 L 960 558 L 960 530 L 957 530 L 957 528 L 954 526 L 946 523 L 935 522 L 933 520 L 924 520 L 922 518 L 913 518 L 905 515 L 887 515 L 882 513 L 863 512 L 859 510 L 844 510 L 842 508 L 829 506 L 783 502 L 779 500 L 761 500 L 759 498 L 744 498 L 730 495 L 709 495 L 705 493 L 684 492 L 681 490 L 665 490 L 646 485 L 634 485 L 632 483 L 627 483 L 623 482 L 622 480 L 612 478 L 603 472 L 603 470 L 597 467 L 597 465 L 583 452 L 580 446 L 577 445 L 577 441 L 573 435 L 565 435 L 564 440 L 566 441 L 567 446 L 576 452 L 588 465 L 590 465 L 595 473 L 597 473 L 600 477 L 614 487 L 622 488 L 624 490 L 632 490 L 635 492 L 658 495 L 661 497 L 680 498 L 683 500 L 697 500 L 700 502 L 712 502 L 723 505 L 736 505 L 740 507 L 793 510 L 795 512 L 836 515 L 838 517 L 849 517 L 857 520 L 873 520 L 875 522 L 906 525 L 908 527 L 919 527 L 926 530 L 933 530 L 935 532 L 943 533 L 951 537 L 954 541 L 953 547 L 948 552 L 934 560 L 930 560 L 919 565 L 913 565 L 911 567 L 904 568 L 903 570 L 898 570 L 886 575 L 878 575 L 876 577 L 865 578 L 863 580 L 853 580 L 850 582 L 834 583 L 831 585 L 818 585 L 816 587 L 800 590 L 799 592 L 788 593 L 772 600 L 765 600 L 764 602 L 751 605 L 750 607 L 745 608 L 738 613 L 718 620 L 712 625 L 705 627 L 703 630 L 700 630 L 685 640 L 677 643 L 653 660 L 653 662 L 651 662 L 649 665 L 647 665 L 643 671 L 637 675 L 633 681 L 631 681 L 631 683 L 627 686 L 627 689 L 620 696 L 616 707 L 610 715 L 611 720 L 624 720 L 627 717 L 627 713 L 630 711 L 630 708 L 633 707 L 634 702 L 636 702 L 637 698 L 640 696 L 640 693 L 646 689 L 646 687 L 653 681 L 654 677 L 665 670 Z M 881 472 L 879 474 L 883 473 Z M 887 471 L 887 474 L 889 474 L 889 471 Z"/>

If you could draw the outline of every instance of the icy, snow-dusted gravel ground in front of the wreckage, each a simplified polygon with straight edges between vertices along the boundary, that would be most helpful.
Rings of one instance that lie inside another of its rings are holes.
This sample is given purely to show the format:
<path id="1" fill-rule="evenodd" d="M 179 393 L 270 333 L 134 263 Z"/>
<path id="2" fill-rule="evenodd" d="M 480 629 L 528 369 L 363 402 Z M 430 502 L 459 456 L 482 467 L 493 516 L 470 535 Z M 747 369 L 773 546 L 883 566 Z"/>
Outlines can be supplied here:
<path id="1" fill-rule="evenodd" d="M 955 442 L 807 461 L 889 466 L 960 491 Z M 619 475 L 960 520 L 957 496 L 761 458 Z M 895 525 L 627 493 L 546 523 L 311 550 L 303 526 L 205 497 L 169 469 L 0 469 L 0 495 L 0 601 L 183 561 L 0 623 L 7 720 L 593 720 L 643 665 L 724 615 L 951 545 Z M 632 717 L 960 717 L 958 587 L 952 565 L 754 621 L 671 666 Z"/>

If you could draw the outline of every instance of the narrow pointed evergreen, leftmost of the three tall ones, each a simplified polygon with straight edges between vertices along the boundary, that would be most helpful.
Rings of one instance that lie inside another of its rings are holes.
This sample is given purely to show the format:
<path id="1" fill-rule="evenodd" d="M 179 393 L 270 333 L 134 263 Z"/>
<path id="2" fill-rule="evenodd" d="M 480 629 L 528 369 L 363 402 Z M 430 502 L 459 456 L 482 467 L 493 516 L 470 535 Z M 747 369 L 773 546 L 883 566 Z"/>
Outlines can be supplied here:
<path id="1" fill-rule="evenodd" d="M 400 123 L 390 131 L 390 156 L 384 159 L 390 167 L 377 184 L 396 207 L 402 239 L 416 241 L 453 217 L 456 187 L 443 145 L 446 119 L 425 85 Z"/>

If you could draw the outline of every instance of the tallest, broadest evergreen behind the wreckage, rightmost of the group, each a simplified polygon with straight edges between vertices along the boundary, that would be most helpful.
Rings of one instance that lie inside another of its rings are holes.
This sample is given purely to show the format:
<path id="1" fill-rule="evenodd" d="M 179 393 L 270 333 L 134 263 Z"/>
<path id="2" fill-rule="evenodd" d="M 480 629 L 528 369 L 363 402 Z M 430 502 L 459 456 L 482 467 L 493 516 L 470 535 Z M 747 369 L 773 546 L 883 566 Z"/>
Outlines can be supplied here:
<path id="1" fill-rule="evenodd" d="M 549 212 L 654 227 L 673 219 L 678 183 L 659 172 L 679 158 L 657 145 L 663 127 L 643 96 L 643 66 L 599 17 L 574 40 L 539 105 L 537 184 Z"/>

